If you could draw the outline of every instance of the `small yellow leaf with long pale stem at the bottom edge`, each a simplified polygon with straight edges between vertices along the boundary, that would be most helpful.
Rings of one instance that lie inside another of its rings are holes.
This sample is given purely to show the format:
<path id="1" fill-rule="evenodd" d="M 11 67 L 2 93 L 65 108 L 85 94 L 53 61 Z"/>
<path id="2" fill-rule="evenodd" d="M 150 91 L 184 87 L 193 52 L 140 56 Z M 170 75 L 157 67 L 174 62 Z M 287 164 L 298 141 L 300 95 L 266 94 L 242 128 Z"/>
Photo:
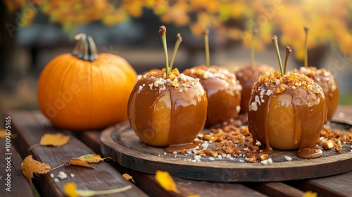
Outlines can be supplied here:
<path id="1" fill-rule="evenodd" d="M 131 185 L 127 185 L 118 189 L 109 189 L 109 190 L 101 190 L 101 191 L 94 191 L 94 190 L 79 190 L 77 189 L 76 185 L 73 182 L 68 182 L 63 186 L 63 191 L 65 194 L 70 197 L 89 197 L 89 196 L 97 196 L 97 195 L 106 195 L 109 193 L 118 193 L 122 191 L 126 191 L 127 189 L 131 189 Z"/>

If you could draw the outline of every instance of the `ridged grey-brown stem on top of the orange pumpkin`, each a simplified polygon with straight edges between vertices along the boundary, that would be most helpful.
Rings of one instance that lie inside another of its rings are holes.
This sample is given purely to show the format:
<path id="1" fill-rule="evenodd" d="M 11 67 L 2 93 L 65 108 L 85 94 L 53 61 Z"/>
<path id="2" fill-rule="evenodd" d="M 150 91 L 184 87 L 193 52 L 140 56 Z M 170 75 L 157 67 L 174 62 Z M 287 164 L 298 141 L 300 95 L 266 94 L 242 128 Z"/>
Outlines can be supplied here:
<path id="1" fill-rule="evenodd" d="M 73 49 L 73 56 L 84 61 L 95 61 L 98 58 L 98 52 L 94 40 L 90 35 L 80 33 L 75 35 L 77 44 Z"/>

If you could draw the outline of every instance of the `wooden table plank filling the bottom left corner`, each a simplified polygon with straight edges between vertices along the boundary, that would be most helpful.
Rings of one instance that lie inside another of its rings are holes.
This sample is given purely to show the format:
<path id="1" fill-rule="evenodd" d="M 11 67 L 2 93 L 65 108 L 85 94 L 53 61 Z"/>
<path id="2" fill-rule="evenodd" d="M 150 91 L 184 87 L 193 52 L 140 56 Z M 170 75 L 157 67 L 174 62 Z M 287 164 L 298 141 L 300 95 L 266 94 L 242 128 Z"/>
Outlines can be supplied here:
<path id="1" fill-rule="evenodd" d="M 15 150 L 15 147 L 11 145 L 10 151 L 6 152 L 5 139 L 0 139 L 0 147 L 0 155 L 2 157 L 0 159 L 0 196 L 33 196 L 30 183 L 22 174 L 21 163 L 23 160 Z"/>

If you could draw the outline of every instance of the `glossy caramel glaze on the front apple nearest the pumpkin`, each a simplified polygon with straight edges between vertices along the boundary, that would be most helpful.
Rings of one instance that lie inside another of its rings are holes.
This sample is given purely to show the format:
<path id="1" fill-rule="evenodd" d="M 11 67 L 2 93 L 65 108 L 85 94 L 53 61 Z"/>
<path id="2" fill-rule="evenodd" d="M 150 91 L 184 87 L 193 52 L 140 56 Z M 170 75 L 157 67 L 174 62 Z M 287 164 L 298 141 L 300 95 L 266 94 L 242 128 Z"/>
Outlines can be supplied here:
<path id="1" fill-rule="evenodd" d="M 161 73 L 158 72 L 156 75 L 161 75 Z M 191 80 L 194 79 L 191 78 Z M 161 89 L 154 87 L 152 85 L 154 82 L 156 82 L 156 77 L 144 75 L 132 90 L 128 103 L 128 117 L 134 132 L 146 144 L 168 146 L 165 149 L 168 152 L 189 150 L 199 146 L 194 143 L 194 139 L 205 125 L 208 107 L 206 93 L 201 84 L 197 82 L 194 87 L 188 87 L 187 92 L 181 92 L 180 89 L 184 88 L 182 84 L 180 87 L 165 86 L 165 89 Z M 158 135 L 154 129 L 158 123 L 154 115 L 156 103 L 168 93 L 170 93 L 171 101 L 170 130 L 163 130 L 163 132 L 168 132 L 166 134 L 168 141 L 166 144 L 150 144 L 149 142 Z"/>

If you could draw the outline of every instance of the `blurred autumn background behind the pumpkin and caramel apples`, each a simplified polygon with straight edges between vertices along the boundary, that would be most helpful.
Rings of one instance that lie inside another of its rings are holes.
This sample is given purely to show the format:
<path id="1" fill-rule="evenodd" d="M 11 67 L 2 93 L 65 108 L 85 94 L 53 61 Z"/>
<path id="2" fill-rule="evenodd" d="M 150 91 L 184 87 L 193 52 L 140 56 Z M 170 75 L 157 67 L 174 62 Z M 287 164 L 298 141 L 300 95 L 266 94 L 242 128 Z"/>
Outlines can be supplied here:
<path id="1" fill-rule="evenodd" d="M 352 106 L 352 4 L 312 1 L 165 0 L 0 0 L 0 113 L 38 109 L 37 80 L 51 59 L 71 53 L 75 34 L 90 34 L 99 53 L 115 53 L 142 73 L 163 68 L 158 27 L 165 25 L 169 54 L 180 33 L 183 42 L 174 67 L 206 63 L 203 30 L 210 34 L 210 63 L 230 70 L 249 64 L 253 28 L 256 63 L 279 66 L 271 37 L 282 58 L 293 54 L 288 70 L 303 66 L 304 30 L 309 27 L 308 65 L 337 78 L 340 104 Z M 3 121 L 3 120 L 1 120 Z"/>

